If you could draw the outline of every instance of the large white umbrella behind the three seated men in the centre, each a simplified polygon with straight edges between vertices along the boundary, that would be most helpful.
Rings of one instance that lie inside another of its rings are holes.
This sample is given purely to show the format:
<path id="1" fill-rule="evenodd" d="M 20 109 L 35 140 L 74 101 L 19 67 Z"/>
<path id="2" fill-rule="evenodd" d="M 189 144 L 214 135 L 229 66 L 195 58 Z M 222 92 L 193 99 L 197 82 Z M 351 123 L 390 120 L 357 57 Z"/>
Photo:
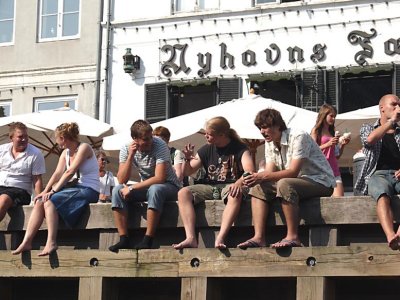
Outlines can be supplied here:
<path id="1" fill-rule="evenodd" d="M 317 113 L 315 112 L 261 96 L 251 95 L 246 98 L 234 99 L 193 113 L 153 123 L 152 127 L 164 126 L 168 128 L 171 132 L 171 145 L 178 149 L 182 149 L 188 142 L 198 147 L 205 143 L 202 135 L 205 123 L 213 117 L 223 116 L 229 121 L 231 128 L 235 129 L 242 139 L 247 140 L 250 148 L 255 148 L 264 139 L 258 128 L 254 125 L 254 119 L 260 110 L 266 108 L 278 110 L 288 127 L 303 129 L 306 132 L 311 131 L 317 117 Z M 124 131 L 105 137 L 103 148 L 105 150 L 119 150 L 122 145 L 128 143 L 130 140 L 129 130 Z"/>

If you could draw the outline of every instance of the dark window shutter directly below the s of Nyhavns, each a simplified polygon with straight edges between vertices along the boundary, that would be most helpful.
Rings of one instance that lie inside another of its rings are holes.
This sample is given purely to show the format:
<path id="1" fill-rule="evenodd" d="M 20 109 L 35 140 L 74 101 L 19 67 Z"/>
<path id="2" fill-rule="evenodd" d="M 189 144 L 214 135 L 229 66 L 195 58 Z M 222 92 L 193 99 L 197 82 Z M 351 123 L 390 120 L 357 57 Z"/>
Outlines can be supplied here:
<path id="1" fill-rule="evenodd" d="M 301 107 L 318 111 L 320 105 L 324 103 L 324 72 L 318 71 L 305 71 L 302 74 L 303 86 Z"/>

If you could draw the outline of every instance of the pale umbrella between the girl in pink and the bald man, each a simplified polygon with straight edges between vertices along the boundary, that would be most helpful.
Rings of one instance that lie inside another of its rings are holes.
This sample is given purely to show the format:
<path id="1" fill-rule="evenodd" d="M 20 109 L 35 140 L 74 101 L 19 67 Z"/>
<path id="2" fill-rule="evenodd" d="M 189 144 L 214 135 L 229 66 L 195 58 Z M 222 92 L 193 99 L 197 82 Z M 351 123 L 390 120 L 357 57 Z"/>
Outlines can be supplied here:
<path id="1" fill-rule="evenodd" d="M 364 123 L 374 123 L 380 118 L 379 105 L 357 109 L 336 116 L 335 127 L 340 133 L 351 132 L 351 141 L 339 160 L 341 167 L 353 165 L 353 156 L 361 149 L 360 128 Z"/>

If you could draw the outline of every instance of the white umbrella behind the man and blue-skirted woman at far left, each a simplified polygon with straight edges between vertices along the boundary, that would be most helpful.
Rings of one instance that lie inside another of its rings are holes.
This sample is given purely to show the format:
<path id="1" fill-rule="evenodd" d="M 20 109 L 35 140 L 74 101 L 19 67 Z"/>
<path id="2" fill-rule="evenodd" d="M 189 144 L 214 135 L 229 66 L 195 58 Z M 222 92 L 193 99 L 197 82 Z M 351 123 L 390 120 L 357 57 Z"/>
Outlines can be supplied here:
<path id="1" fill-rule="evenodd" d="M 55 142 L 54 130 L 62 123 L 76 122 L 81 140 L 88 142 L 94 148 L 100 147 L 103 137 L 112 133 L 112 127 L 109 124 L 69 107 L 63 107 L 0 118 L 0 143 L 9 141 L 8 125 L 12 122 L 24 123 L 29 128 L 29 142 L 43 150 L 46 156 L 51 153 L 57 155 L 61 153 Z"/>

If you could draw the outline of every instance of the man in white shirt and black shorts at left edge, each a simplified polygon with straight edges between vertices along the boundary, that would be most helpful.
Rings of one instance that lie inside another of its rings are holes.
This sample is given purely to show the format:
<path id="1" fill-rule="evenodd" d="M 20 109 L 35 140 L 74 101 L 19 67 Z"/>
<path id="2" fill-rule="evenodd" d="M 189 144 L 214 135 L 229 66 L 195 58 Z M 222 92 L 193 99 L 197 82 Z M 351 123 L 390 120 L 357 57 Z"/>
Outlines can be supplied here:
<path id="1" fill-rule="evenodd" d="M 43 154 L 28 143 L 25 124 L 12 123 L 9 136 L 11 142 L 0 145 L 0 221 L 9 208 L 30 203 L 32 187 L 36 194 L 43 190 L 46 172 Z"/>

